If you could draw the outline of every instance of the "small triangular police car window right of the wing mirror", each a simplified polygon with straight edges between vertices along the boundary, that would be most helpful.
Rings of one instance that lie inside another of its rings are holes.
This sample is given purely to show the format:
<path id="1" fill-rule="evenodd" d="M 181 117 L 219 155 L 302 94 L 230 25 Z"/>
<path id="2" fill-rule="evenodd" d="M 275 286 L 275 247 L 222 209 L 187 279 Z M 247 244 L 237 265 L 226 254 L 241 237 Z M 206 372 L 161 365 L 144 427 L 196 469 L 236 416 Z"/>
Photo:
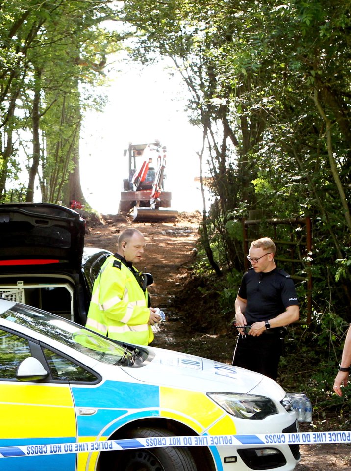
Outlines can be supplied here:
<path id="1" fill-rule="evenodd" d="M 59 381 L 95 382 L 98 378 L 80 365 L 75 364 L 69 358 L 52 352 L 49 348 L 43 349 L 46 361 L 49 365 L 52 379 Z"/>

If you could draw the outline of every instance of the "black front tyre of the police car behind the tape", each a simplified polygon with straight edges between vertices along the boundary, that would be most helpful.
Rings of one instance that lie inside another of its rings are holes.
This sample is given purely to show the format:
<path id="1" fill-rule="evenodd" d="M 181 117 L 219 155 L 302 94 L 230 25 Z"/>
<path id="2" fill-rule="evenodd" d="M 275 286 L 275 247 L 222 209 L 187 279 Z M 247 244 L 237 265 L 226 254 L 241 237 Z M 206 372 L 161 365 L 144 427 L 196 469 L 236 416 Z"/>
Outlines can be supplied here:
<path id="1" fill-rule="evenodd" d="M 172 437 L 174 434 L 160 428 L 138 428 L 126 438 Z M 147 448 L 118 451 L 115 470 L 123 471 L 197 471 L 187 448 Z"/>

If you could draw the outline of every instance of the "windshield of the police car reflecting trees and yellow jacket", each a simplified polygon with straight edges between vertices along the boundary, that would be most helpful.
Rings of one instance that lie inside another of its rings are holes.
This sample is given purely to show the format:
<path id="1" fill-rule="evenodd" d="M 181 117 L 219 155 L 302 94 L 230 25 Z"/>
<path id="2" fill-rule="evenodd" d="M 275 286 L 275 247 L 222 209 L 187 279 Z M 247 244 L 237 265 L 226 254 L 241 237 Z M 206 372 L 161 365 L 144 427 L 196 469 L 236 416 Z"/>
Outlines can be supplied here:
<path id="1" fill-rule="evenodd" d="M 74 348 L 89 357 L 109 364 L 125 364 L 126 348 L 105 337 L 95 334 L 84 327 L 57 315 L 40 311 L 31 306 L 13 305 L 0 314 L 8 321 L 23 325 L 31 331 L 43 334 L 50 339 Z M 132 356 L 133 350 L 130 352 Z"/>

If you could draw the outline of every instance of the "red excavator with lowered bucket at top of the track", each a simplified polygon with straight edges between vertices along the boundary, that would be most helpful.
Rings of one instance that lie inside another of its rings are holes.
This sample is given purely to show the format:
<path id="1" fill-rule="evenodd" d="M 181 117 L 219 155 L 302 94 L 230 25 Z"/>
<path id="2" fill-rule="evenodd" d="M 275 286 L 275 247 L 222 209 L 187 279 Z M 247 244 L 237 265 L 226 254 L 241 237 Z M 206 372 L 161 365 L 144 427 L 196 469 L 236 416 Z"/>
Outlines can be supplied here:
<path id="1" fill-rule="evenodd" d="M 172 194 L 164 191 L 166 146 L 161 147 L 159 141 L 129 143 L 124 157 L 127 154 L 129 176 L 123 179 L 119 212 L 132 212 L 134 222 L 175 220 L 178 211 L 170 208 Z"/>

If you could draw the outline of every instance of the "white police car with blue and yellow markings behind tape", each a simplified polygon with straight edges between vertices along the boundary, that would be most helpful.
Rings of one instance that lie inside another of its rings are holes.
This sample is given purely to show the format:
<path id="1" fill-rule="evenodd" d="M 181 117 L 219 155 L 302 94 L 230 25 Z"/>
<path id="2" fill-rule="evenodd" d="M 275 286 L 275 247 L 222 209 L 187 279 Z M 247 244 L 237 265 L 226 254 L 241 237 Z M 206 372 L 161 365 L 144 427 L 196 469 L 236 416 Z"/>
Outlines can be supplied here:
<path id="1" fill-rule="evenodd" d="M 0 417 L 0 471 L 288 471 L 300 460 L 298 445 L 245 439 L 298 430 L 273 380 L 111 341 L 5 299 Z M 149 446 L 129 449 L 138 439 Z M 126 446 L 112 450 L 112 441 Z"/>

